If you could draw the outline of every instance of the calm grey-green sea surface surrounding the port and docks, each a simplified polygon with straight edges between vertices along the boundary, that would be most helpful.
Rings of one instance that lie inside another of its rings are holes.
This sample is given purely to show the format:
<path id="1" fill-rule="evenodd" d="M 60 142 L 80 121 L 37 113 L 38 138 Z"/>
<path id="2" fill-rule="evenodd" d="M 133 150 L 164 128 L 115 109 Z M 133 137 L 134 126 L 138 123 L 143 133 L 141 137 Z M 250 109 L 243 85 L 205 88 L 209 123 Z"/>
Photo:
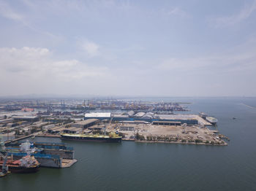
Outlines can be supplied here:
<path id="1" fill-rule="evenodd" d="M 10 174 L 0 179 L 0 190 L 256 190 L 256 98 L 174 101 L 192 102 L 188 106 L 193 113 L 217 117 L 229 145 L 64 141 L 75 148 L 78 163 Z"/>

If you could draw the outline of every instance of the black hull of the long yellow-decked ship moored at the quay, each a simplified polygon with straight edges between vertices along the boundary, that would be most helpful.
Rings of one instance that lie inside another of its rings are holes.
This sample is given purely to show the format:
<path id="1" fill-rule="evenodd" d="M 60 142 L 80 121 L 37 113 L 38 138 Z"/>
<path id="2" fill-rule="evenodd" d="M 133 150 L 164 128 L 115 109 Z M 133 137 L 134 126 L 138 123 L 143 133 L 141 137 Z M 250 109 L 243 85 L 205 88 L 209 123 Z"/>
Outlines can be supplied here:
<path id="1" fill-rule="evenodd" d="M 93 141 L 93 142 L 121 142 L 121 138 L 98 138 L 98 137 L 80 137 L 80 136 L 63 136 L 62 140 L 72 141 Z"/>

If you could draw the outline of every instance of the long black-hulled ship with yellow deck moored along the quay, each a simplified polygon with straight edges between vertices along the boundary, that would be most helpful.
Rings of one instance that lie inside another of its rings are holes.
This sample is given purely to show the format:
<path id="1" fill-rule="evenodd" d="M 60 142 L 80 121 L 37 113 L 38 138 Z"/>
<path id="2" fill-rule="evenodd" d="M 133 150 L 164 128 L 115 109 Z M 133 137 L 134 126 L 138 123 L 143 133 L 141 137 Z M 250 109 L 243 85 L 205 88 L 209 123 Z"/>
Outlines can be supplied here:
<path id="1" fill-rule="evenodd" d="M 75 141 L 102 141 L 102 142 L 121 142 L 121 136 L 115 133 L 106 135 L 72 134 L 61 133 L 61 139 Z"/>

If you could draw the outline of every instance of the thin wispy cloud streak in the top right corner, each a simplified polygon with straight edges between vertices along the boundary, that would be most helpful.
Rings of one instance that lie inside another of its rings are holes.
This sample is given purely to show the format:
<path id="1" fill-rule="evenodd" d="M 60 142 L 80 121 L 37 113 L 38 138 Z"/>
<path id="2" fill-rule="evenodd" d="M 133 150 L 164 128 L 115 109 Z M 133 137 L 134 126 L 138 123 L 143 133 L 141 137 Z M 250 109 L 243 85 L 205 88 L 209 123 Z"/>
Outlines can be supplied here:
<path id="1" fill-rule="evenodd" d="M 217 17 L 210 20 L 211 26 L 223 27 L 223 26 L 233 26 L 237 23 L 241 23 L 252 15 L 252 12 L 256 10 L 256 0 L 253 1 L 251 5 L 246 5 L 241 11 L 236 15 L 231 15 L 227 17 Z"/>

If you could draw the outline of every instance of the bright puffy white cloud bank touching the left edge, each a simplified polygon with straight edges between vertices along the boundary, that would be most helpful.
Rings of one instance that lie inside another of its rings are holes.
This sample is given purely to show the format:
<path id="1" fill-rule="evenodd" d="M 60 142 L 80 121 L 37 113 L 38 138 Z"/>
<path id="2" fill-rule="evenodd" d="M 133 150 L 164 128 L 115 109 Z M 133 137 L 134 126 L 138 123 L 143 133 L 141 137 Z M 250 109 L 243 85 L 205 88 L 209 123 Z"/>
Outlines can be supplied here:
<path id="1" fill-rule="evenodd" d="M 18 78 L 72 81 L 85 77 L 105 77 L 106 68 L 94 68 L 77 60 L 56 61 L 46 48 L 0 48 L 1 73 Z"/>

